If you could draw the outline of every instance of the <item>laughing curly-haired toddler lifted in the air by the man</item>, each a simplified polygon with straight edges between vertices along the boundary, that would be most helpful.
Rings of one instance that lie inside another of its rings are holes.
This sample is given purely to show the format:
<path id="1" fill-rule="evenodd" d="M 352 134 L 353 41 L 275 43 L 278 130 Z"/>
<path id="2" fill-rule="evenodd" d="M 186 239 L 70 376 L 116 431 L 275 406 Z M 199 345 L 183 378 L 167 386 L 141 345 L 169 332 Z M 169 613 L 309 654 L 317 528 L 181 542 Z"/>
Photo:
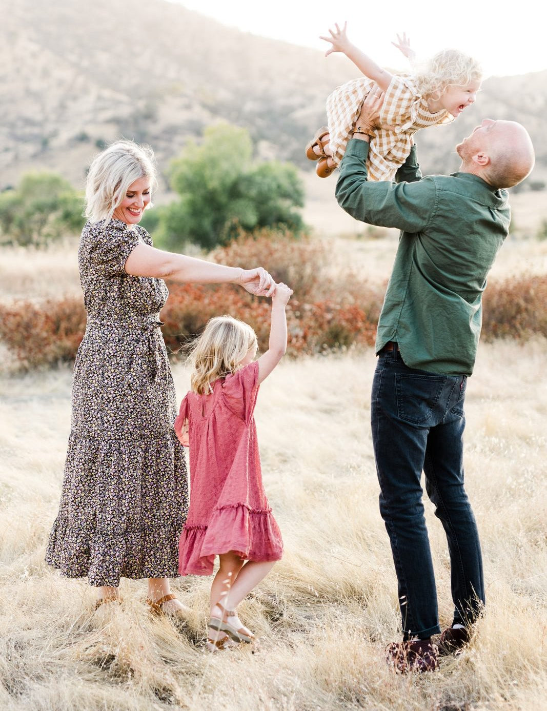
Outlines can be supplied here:
<path id="1" fill-rule="evenodd" d="M 481 85 L 482 70 L 473 58 L 457 50 L 442 50 L 415 73 L 392 75 L 349 41 L 346 23 L 342 29 L 336 25 L 336 30 L 329 33 L 330 37 L 321 37 L 332 45 L 326 55 L 344 53 L 365 77 L 346 82 L 329 95 L 328 127 L 316 132 L 306 146 L 306 155 L 318 161 L 315 171 L 320 178 L 329 176 L 344 156 L 364 98 L 377 84 L 385 94 L 380 114 L 382 128 L 371 136 L 368 179 L 393 181 L 410 153 L 416 131 L 450 123 L 472 105 Z M 413 50 L 405 35 L 395 46 L 412 59 Z"/>

